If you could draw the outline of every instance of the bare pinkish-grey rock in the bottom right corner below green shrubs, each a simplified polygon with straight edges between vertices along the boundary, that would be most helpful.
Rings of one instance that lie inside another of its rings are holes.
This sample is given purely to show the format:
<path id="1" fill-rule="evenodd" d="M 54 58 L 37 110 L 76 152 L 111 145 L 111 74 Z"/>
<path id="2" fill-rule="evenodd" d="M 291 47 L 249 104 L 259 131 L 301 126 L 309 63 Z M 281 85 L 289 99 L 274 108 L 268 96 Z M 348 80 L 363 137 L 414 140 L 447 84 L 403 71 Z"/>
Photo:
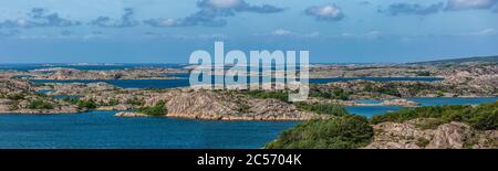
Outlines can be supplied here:
<path id="1" fill-rule="evenodd" d="M 478 131 L 463 122 L 449 122 L 435 129 L 422 129 L 416 119 L 402 124 L 382 122 L 374 127 L 375 136 L 366 149 L 463 149 L 497 148 L 498 131 Z"/>

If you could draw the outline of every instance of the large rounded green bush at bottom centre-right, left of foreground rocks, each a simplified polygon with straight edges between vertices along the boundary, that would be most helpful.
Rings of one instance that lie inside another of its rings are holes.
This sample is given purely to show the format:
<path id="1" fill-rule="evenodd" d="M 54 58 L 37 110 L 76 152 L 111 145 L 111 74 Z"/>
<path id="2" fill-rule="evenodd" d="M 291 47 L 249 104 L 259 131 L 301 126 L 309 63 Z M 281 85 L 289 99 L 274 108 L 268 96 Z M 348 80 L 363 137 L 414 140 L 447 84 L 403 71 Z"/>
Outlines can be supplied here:
<path id="1" fill-rule="evenodd" d="M 310 120 L 280 135 L 268 149 L 353 149 L 372 141 L 373 128 L 361 116 Z"/>

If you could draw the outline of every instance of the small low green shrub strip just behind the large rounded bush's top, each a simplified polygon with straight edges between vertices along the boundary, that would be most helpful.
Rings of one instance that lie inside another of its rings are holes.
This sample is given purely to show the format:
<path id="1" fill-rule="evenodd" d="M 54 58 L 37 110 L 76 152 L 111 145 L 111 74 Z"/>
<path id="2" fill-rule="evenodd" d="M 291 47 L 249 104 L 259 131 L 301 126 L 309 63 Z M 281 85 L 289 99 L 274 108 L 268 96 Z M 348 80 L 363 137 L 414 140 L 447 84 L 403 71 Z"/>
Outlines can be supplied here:
<path id="1" fill-rule="evenodd" d="M 304 111 L 311 111 L 315 114 L 325 114 L 333 116 L 345 116 L 349 115 L 341 105 L 338 104 L 307 104 L 307 103 L 295 103 L 295 107 Z"/>

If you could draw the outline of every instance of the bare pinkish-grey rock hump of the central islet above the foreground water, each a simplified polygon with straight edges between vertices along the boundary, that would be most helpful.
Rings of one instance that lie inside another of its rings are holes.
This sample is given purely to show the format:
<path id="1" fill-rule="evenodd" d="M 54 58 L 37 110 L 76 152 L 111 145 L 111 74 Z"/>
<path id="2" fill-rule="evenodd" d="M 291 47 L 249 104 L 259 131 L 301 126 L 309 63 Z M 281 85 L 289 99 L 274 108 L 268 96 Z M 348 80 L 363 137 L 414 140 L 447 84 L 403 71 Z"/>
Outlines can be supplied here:
<path id="1" fill-rule="evenodd" d="M 326 118 L 303 113 L 279 99 L 248 98 L 230 92 L 177 89 L 155 95 L 147 106 L 166 103 L 168 117 L 210 120 L 308 120 Z"/>

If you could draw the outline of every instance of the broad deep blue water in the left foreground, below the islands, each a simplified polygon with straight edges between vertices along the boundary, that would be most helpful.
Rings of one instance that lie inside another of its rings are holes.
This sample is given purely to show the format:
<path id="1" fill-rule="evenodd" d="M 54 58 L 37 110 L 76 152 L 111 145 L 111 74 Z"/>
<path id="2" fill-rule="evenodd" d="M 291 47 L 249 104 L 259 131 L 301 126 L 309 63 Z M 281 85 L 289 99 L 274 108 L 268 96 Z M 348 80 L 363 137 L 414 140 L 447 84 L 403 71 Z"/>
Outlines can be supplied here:
<path id="1" fill-rule="evenodd" d="M 0 115 L 0 148 L 261 148 L 298 121 L 122 118 L 116 111 Z"/>

